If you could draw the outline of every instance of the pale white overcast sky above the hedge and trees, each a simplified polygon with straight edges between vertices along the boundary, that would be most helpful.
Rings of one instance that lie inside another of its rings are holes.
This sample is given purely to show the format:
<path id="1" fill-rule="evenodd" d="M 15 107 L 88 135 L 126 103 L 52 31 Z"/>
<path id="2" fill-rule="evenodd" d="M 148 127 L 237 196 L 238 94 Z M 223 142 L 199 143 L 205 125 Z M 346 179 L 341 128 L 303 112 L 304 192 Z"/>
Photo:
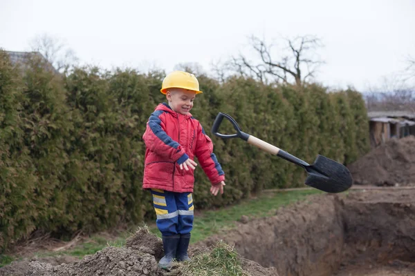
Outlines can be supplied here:
<path id="1" fill-rule="evenodd" d="M 314 34 L 326 62 L 317 81 L 364 91 L 415 57 L 415 0 L 0 0 L 0 48 L 29 50 L 44 33 L 64 39 L 83 63 L 167 71 L 185 62 L 208 71 L 246 51 L 251 34 Z"/>

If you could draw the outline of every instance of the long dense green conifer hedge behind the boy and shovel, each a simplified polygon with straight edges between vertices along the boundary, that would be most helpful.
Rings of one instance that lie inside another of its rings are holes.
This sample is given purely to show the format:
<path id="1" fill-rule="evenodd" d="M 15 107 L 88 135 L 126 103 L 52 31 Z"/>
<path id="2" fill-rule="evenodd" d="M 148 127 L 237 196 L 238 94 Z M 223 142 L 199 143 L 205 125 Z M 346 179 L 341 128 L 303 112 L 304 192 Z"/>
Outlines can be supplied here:
<path id="1" fill-rule="evenodd" d="M 151 197 L 141 189 L 142 135 L 164 101 L 164 72 L 86 67 L 60 76 L 42 62 L 30 59 L 21 70 L 0 51 L 0 251 L 34 230 L 71 235 L 154 217 Z M 220 111 L 243 131 L 308 162 L 320 153 L 349 164 L 369 150 L 365 103 L 356 91 L 197 77 L 203 94 L 192 115 L 208 134 Z M 232 132 L 232 126 L 224 121 L 221 131 Z M 210 136 L 227 186 L 223 196 L 213 197 L 198 168 L 196 208 L 303 185 L 302 168 L 241 139 Z"/>

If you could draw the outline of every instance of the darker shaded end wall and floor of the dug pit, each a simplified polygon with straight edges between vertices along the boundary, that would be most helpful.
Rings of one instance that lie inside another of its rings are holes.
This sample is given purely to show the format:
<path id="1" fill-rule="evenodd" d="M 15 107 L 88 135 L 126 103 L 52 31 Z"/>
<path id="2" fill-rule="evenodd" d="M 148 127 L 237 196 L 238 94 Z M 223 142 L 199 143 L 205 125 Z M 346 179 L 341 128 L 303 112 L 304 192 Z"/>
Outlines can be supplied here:
<path id="1" fill-rule="evenodd" d="M 343 220 L 345 261 L 335 275 L 415 275 L 415 190 L 352 193 Z"/>

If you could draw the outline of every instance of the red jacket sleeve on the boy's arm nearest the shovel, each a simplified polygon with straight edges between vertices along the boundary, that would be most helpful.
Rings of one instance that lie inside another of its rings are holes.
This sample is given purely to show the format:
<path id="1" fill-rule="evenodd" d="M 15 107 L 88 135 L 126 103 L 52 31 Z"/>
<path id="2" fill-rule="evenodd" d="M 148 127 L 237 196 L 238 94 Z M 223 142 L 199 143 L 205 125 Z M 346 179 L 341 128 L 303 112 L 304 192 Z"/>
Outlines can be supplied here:
<path id="1" fill-rule="evenodd" d="M 195 155 L 212 185 L 225 180 L 225 172 L 213 153 L 212 139 L 206 135 L 200 123 L 197 131 Z"/>

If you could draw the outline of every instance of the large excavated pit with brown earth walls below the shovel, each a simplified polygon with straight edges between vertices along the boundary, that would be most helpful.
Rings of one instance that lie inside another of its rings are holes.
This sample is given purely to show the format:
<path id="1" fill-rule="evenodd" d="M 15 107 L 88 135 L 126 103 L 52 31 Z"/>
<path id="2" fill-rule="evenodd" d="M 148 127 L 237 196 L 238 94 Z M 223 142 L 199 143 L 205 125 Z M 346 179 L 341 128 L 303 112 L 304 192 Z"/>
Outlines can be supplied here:
<path id="1" fill-rule="evenodd" d="M 415 276 L 415 193 L 320 195 L 241 224 L 224 239 L 279 276 Z"/>

